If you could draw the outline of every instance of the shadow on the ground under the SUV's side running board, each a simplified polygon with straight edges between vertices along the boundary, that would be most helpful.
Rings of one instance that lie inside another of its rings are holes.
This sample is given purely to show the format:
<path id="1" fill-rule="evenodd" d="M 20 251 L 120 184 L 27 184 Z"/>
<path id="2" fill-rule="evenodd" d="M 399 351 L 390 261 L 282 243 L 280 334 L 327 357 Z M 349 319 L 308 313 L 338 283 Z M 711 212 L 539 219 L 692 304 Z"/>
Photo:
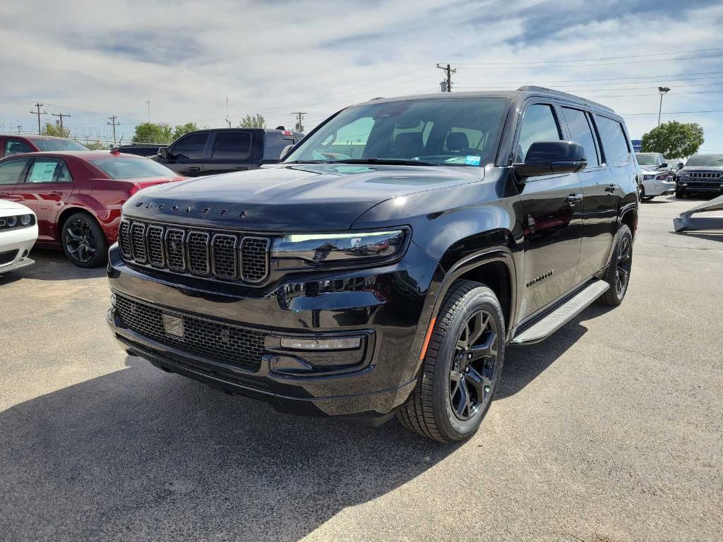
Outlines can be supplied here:
<path id="1" fill-rule="evenodd" d="M 504 399 L 523 390 L 586 334 L 587 328 L 581 322 L 599 317 L 610 309 L 610 306 L 593 304 L 557 330 L 555 336 L 549 340 L 533 345 L 508 346 L 495 399 Z"/>

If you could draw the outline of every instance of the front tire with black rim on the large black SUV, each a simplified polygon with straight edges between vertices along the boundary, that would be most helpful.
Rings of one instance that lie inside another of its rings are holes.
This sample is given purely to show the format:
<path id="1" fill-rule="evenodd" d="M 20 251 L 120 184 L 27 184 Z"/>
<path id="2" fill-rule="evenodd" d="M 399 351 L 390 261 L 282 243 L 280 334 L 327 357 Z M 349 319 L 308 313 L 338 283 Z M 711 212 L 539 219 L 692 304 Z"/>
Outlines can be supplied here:
<path id="1" fill-rule="evenodd" d="M 397 410 L 397 419 L 437 442 L 466 439 L 489 410 L 504 359 L 505 319 L 497 296 L 481 283 L 456 281 L 437 315 L 414 391 Z"/>

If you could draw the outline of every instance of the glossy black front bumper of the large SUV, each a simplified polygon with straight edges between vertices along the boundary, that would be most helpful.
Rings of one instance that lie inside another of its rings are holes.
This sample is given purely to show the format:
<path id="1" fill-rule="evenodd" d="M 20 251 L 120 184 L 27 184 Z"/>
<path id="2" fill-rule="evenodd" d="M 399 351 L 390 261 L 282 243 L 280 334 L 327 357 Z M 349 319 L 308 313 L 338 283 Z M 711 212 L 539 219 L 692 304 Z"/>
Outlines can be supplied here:
<path id="1" fill-rule="evenodd" d="M 107 320 L 122 348 L 166 371 L 288 413 L 381 422 L 414 389 L 426 332 L 425 325 L 417 324 L 424 321 L 437 272 L 437 263 L 411 244 L 400 262 L 384 268 L 296 278 L 267 289 L 243 288 L 212 281 L 181 283 L 184 279 L 176 275 L 131 267 L 113 246 L 108 278 L 116 298 L 132 299 L 184 322 L 208 322 L 207 335 L 209 329 L 243 328 L 264 335 L 265 343 L 258 364 L 236 363 L 209 355 L 210 350 L 192 346 L 190 340 L 184 344 L 185 339 L 164 337 L 163 332 L 139 332 L 124 322 L 118 308 L 111 307 Z M 278 343 L 278 337 L 350 335 L 363 337 L 359 356 L 325 353 L 327 358 L 339 356 L 341 365 L 317 365 L 318 356 L 285 350 Z M 211 337 L 210 348 L 218 340 Z M 306 364 L 310 370 L 295 372 L 299 358 L 299 366 L 311 360 Z"/>

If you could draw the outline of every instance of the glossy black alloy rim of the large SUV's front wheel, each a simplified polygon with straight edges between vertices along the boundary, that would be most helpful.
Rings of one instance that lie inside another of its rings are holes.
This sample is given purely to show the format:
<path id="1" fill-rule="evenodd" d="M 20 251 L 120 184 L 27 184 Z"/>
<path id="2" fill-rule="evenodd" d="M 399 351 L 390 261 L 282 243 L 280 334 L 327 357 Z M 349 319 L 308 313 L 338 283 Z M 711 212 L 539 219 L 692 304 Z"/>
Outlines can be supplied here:
<path id="1" fill-rule="evenodd" d="M 472 314 L 457 338 L 449 371 L 449 400 L 461 421 L 474 418 L 492 399 L 497 366 L 497 327 L 487 311 Z"/>

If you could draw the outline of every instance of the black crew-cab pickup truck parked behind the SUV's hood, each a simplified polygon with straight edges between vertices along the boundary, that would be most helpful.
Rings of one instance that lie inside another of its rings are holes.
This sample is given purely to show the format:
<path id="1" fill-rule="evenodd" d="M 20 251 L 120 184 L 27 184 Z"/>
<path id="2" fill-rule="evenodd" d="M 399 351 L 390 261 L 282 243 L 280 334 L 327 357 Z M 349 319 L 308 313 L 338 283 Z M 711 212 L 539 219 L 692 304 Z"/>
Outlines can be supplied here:
<path id="1" fill-rule="evenodd" d="M 278 163 L 281 151 L 304 134 L 264 128 L 199 130 L 158 149 L 158 163 L 189 177 L 260 168 Z"/>

